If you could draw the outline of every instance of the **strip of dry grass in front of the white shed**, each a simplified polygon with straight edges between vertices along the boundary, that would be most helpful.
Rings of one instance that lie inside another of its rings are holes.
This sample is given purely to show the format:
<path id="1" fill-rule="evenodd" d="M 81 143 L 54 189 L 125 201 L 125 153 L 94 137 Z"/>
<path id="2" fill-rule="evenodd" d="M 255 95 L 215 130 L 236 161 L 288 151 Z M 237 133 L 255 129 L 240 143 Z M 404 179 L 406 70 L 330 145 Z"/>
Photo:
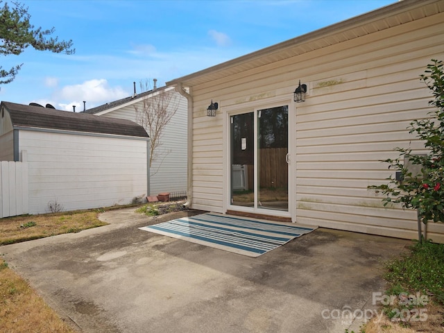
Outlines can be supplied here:
<path id="1" fill-rule="evenodd" d="M 3 218 L 0 219 L 0 245 L 107 225 L 97 218 L 98 214 L 97 210 L 87 210 Z"/>

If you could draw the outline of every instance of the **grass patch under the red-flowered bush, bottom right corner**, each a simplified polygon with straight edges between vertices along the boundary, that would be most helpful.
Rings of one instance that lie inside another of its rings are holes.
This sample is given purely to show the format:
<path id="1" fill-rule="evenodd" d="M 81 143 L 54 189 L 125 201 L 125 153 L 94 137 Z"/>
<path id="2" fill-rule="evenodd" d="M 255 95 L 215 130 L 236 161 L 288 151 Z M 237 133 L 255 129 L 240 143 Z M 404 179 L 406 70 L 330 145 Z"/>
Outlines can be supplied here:
<path id="1" fill-rule="evenodd" d="M 362 332 L 444 332 L 444 244 L 414 241 L 408 253 L 384 264 L 383 278 L 386 300 L 393 301 Z"/>

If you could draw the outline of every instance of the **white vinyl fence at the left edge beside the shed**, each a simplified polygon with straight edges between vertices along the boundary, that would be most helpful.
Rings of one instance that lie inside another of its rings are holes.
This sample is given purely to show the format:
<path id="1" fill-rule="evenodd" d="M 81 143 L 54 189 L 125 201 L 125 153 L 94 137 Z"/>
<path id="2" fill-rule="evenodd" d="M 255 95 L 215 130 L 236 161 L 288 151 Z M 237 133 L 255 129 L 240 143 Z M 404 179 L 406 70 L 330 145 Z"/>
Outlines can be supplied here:
<path id="1" fill-rule="evenodd" d="M 28 214 L 28 162 L 0 162 L 0 218 Z"/>

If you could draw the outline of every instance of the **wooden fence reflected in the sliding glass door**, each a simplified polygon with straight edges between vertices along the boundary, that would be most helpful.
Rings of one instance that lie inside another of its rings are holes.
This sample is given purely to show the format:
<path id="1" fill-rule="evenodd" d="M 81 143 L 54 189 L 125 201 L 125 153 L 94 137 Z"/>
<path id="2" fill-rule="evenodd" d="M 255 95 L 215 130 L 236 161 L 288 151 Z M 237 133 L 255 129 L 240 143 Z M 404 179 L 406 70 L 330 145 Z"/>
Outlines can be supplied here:
<path id="1" fill-rule="evenodd" d="M 287 188 L 289 182 L 288 164 L 285 157 L 288 148 L 259 149 L 259 185 L 264 188 Z M 253 165 L 246 166 L 248 170 L 248 189 L 253 189 Z"/>

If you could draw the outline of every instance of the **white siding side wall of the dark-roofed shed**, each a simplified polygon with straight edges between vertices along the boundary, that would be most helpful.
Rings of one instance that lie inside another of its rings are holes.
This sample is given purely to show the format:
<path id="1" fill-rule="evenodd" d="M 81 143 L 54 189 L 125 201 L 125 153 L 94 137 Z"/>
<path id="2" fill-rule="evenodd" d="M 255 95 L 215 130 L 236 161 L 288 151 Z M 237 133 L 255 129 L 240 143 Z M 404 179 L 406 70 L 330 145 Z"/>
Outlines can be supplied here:
<path id="1" fill-rule="evenodd" d="M 131 203 L 146 194 L 148 142 L 125 137 L 20 130 L 19 151 L 28 152 L 29 212 Z"/>

